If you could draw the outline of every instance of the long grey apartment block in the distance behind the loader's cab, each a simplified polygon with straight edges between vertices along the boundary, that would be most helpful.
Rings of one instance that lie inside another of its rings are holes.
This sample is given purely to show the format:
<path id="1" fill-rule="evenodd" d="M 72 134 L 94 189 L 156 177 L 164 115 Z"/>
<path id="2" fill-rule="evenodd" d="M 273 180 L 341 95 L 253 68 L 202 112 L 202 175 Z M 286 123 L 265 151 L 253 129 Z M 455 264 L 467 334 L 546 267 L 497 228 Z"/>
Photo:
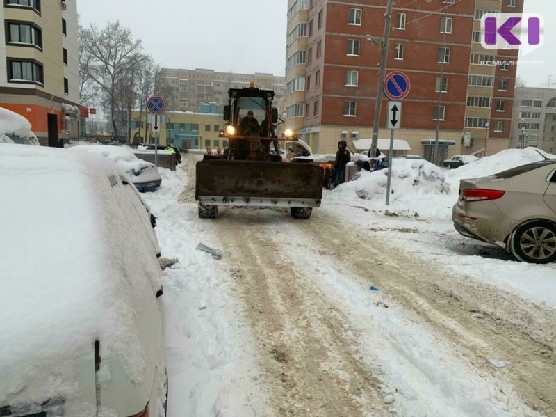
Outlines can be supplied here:
<path id="1" fill-rule="evenodd" d="M 272 74 L 235 74 L 215 70 L 172 70 L 164 68 L 161 79 L 172 90 L 171 97 L 164 97 L 175 111 L 199 111 L 201 104 L 215 103 L 219 109 L 228 102 L 230 88 L 244 88 L 254 82 L 257 88 L 274 90 L 276 100 L 284 97 L 284 77 Z"/>

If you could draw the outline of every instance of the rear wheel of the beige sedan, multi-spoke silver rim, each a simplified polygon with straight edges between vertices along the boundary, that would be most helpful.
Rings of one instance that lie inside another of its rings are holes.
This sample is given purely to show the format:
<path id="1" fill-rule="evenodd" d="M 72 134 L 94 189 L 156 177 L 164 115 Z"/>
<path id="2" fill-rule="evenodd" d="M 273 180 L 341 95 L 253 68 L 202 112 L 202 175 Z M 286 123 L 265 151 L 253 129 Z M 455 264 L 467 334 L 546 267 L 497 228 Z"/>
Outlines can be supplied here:
<path id="1" fill-rule="evenodd" d="M 556 260 L 556 224 L 546 220 L 524 223 L 514 231 L 510 251 L 518 260 L 546 264 Z"/>

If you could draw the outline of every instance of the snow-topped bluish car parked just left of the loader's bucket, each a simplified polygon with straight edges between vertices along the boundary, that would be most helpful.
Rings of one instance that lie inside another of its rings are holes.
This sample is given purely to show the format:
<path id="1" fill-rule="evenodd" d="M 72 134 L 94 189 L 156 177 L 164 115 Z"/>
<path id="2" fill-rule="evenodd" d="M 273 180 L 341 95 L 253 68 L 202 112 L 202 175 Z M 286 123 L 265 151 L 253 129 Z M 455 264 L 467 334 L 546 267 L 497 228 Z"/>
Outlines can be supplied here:
<path id="1" fill-rule="evenodd" d="M 70 150 L 98 153 L 111 159 L 122 168 L 139 191 L 154 191 L 161 185 L 161 173 L 156 165 L 139 159 L 132 150 L 107 145 L 78 145 Z"/>

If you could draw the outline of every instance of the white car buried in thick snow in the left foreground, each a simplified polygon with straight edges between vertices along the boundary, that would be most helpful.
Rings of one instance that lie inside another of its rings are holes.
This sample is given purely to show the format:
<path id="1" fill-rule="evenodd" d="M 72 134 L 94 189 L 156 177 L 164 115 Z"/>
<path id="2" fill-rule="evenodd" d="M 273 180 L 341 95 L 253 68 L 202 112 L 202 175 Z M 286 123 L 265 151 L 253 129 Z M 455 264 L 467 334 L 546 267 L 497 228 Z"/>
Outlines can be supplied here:
<path id="1" fill-rule="evenodd" d="M 0 415 L 165 415 L 149 212 L 110 160 L 0 146 Z"/>

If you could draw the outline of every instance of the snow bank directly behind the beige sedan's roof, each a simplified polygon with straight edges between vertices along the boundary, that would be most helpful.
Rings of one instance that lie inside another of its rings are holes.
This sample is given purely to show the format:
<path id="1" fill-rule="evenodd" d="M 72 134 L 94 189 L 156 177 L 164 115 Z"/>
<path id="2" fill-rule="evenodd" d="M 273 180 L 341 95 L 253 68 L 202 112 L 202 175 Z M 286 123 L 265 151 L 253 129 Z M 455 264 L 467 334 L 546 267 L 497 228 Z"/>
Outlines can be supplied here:
<path id="1" fill-rule="evenodd" d="M 548 154 L 537 148 L 505 149 L 490 157 L 484 157 L 459 168 L 446 171 L 446 182 L 457 191 L 459 180 L 487 177 L 516 166 L 541 161 L 543 159 L 541 155 L 546 155 L 548 159 L 556 158 L 556 155 Z"/>

